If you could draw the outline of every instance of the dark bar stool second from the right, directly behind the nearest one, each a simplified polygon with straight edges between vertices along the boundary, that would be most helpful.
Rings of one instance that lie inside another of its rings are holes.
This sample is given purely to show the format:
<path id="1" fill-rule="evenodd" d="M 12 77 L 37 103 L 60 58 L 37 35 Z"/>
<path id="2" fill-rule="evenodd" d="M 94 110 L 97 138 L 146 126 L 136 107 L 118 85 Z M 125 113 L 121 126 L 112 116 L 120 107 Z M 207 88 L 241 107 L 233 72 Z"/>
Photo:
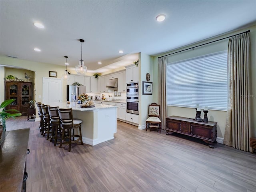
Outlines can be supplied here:
<path id="1" fill-rule="evenodd" d="M 58 106 L 50 107 L 48 106 L 48 114 L 50 118 L 50 124 L 52 126 L 52 135 L 50 142 L 54 139 L 54 146 L 57 144 L 57 140 L 61 142 L 61 130 L 60 130 L 60 118 L 58 114 Z"/>

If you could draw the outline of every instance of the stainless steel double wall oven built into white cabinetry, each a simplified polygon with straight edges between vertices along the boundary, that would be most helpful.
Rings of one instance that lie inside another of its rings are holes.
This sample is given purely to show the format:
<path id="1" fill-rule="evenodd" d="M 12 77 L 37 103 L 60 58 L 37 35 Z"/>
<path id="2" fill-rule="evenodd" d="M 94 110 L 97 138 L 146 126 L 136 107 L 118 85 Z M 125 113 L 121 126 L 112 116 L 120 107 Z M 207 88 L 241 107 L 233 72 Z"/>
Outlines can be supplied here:
<path id="1" fill-rule="evenodd" d="M 139 82 L 126 84 L 126 112 L 139 114 Z"/>

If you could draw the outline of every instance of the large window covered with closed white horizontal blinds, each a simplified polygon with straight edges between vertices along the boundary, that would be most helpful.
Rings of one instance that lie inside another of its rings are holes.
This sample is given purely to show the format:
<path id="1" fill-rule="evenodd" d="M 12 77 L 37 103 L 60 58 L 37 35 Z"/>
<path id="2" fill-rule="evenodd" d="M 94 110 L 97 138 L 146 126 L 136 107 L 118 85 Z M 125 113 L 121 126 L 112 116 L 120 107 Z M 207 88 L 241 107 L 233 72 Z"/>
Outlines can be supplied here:
<path id="1" fill-rule="evenodd" d="M 227 109 L 227 52 L 167 64 L 168 106 Z"/>

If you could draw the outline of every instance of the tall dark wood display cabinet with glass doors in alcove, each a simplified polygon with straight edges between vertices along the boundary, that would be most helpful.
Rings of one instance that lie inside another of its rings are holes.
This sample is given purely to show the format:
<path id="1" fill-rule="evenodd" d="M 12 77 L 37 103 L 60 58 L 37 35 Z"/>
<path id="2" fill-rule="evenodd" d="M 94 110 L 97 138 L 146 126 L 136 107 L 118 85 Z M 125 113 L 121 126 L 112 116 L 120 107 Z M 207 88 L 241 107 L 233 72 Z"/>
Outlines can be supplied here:
<path id="1" fill-rule="evenodd" d="M 26 116 L 30 107 L 29 101 L 33 100 L 32 82 L 6 81 L 5 91 L 6 100 L 14 99 L 6 109 L 16 109 L 22 113 L 22 116 Z"/>

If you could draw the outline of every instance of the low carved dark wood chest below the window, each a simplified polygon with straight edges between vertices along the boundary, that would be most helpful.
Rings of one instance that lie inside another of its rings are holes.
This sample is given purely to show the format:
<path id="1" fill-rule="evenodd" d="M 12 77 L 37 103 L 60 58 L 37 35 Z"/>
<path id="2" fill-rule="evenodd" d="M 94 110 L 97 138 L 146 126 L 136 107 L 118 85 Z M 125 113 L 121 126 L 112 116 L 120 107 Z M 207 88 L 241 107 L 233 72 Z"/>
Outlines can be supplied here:
<path id="1" fill-rule="evenodd" d="M 166 117 L 166 134 L 177 132 L 180 134 L 200 138 L 214 148 L 217 138 L 217 122 L 199 122 L 194 119 L 178 116 Z"/>

